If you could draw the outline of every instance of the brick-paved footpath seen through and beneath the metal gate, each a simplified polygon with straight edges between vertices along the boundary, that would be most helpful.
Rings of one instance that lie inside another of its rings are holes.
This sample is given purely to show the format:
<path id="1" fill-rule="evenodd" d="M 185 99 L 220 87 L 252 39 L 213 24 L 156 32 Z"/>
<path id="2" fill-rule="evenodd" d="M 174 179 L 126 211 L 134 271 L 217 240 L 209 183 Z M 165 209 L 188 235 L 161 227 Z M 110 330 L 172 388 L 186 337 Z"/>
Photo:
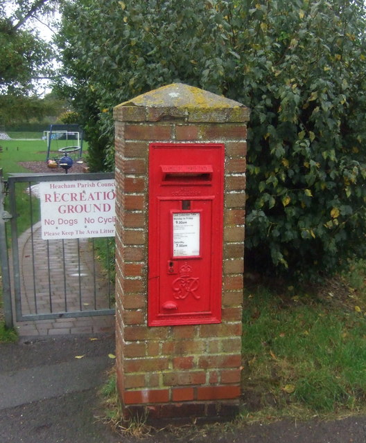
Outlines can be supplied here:
<path id="1" fill-rule="evenodd" d="M 47 242 L 41 238 L 41 225 L 37 223 L 19 237 L 18 248 L 23 314 L 110 307 L 107 280 L 94 261 L 88 239 Z M 112 334 L 114 316 L 61 316 L 15 322 L 15 327 L 19 336 Z"/>

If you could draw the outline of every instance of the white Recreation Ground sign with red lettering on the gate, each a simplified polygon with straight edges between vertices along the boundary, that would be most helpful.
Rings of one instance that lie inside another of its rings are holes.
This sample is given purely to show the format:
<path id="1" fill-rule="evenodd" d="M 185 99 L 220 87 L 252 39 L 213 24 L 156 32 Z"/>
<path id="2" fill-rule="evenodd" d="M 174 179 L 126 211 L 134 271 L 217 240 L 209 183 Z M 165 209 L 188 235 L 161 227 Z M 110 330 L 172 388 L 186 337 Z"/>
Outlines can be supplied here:
<path id="1" fill-rule="evenodd" d="M 114 235 L 114 179 L 42 181 L 40 199 L 42 239 Z"/>

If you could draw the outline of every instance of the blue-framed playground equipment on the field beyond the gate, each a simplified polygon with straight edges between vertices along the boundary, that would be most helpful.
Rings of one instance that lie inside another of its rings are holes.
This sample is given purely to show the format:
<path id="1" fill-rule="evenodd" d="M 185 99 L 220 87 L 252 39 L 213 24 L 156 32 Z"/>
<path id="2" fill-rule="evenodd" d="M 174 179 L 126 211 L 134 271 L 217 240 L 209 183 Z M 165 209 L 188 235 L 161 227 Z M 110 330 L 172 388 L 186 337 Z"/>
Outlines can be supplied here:
<path id="1" fill-rule="evenodd" d="M 49 131 L 44 131 L 47 166 L 60 167 L 67 173 L 74 161 L 82 163 L 82 137 L 79 125 L 51 125 Z"/>

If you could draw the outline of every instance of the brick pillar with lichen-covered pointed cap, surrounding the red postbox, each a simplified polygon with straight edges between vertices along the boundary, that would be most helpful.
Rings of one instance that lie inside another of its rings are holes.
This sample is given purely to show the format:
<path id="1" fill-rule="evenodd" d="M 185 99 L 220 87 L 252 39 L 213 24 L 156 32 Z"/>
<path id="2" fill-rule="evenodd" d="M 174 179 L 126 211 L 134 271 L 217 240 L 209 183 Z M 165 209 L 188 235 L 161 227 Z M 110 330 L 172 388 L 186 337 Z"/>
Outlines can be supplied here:
<path id="1" fill-rule="evenodd" d="M 241 395 L 241 318 L 249 111 L 171 84 L 114 109 L 116 370 L 125 416 L 228 419 Z M 149 143 L 223 143 L 225 208 L 220 324 L 148 327 Z"/>

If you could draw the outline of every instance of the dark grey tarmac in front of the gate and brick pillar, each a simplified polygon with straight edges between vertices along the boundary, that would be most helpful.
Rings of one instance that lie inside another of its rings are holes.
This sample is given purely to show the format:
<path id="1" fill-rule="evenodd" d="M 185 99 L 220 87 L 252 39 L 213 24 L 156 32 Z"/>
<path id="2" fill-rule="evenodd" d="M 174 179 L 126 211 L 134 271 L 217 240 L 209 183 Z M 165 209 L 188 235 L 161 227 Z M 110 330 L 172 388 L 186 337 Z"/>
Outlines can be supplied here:
<path id="1" fill-rule="evenodd" d="M 0 443 L 366 443 L 366 417 L 334 422 L 184 428 L 143 438 L 96 419 L 114 337 L 63 336 L 0 344 Z M 76 356 L 83 356 L 76 359 Z"/>

